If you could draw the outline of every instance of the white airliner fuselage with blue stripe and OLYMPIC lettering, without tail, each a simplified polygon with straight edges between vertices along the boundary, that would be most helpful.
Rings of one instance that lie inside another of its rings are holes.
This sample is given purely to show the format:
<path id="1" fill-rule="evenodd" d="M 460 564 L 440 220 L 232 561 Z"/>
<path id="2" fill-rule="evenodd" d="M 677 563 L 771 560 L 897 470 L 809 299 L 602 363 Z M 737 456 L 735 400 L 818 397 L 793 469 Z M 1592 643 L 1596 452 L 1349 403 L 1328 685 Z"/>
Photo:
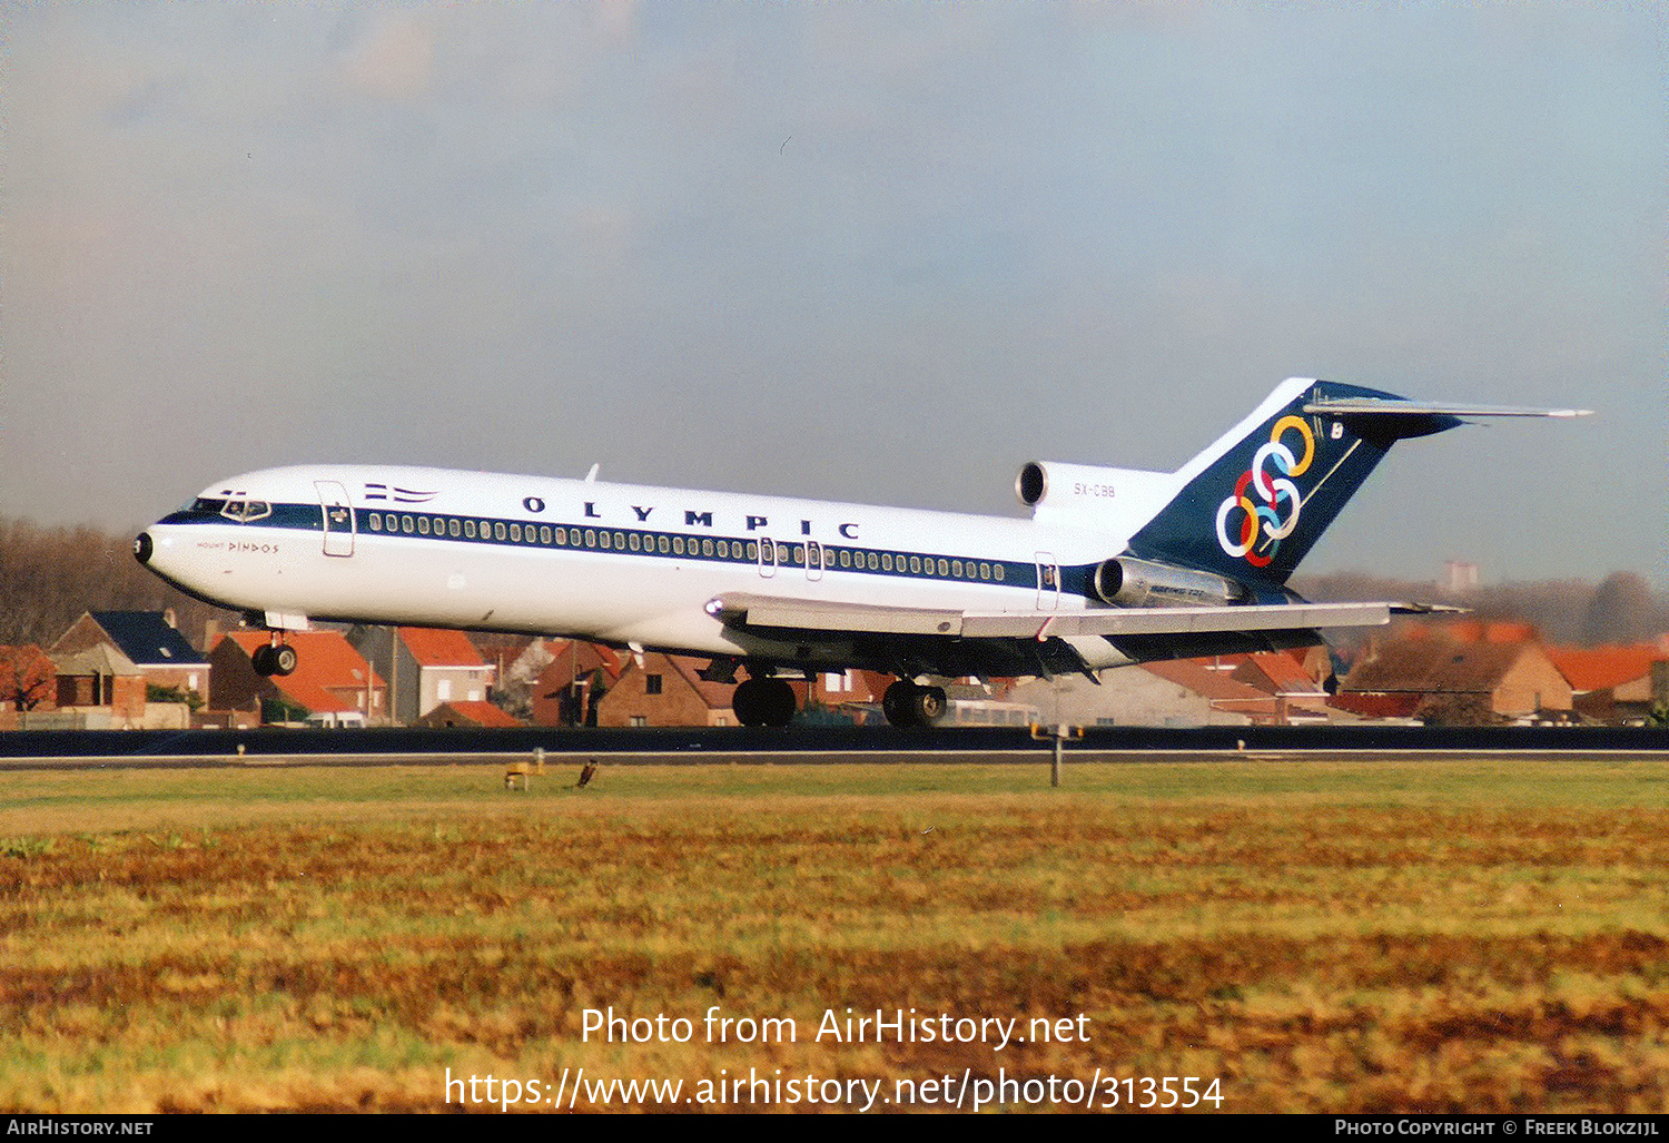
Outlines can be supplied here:
<path id="1" fill-rule="evenodd" d="M 1083 569 L 1140 519 L 1001 519 L 382 466 L 249 472 L 149 529 L 149 566 L 269 626 L 517 631 L 838 667 L 708 614 L 724 592 L 983 612 L 1100 607 Z M 1100 637 L 1090 666 L 1128 662 Z"/>

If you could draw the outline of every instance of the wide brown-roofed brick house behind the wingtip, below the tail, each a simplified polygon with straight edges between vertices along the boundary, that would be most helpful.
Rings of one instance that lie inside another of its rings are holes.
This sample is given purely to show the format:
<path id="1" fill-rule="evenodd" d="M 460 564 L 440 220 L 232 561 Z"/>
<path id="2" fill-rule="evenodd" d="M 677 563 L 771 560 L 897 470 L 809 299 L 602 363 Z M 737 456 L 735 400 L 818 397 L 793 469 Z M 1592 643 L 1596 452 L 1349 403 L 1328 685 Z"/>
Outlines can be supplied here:
<path id="1" fill-rule="evenodd" d="M 1330 704 L 1364 718 L 1487 724 L 1569 716 L 1572 692 L 1539 642 L 1422 634 L 1359 662 Z"/>

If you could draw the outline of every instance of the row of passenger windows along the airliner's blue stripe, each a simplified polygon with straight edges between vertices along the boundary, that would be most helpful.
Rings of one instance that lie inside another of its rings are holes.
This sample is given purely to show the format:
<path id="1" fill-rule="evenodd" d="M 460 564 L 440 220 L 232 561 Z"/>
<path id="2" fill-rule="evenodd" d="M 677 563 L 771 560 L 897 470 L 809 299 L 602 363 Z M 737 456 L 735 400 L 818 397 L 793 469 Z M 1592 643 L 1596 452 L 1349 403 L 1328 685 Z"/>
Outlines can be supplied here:
<path id="1" fill-rule="evenodd" d="M 549 524 L 507 524 L 504 521 L 474 521 L 456 516 L 411 516 L 396 512 L 367 512 L 366 524 L 372 532 L 399 532 L 406 536 L 441 536 L 452 539 L 484 539 L 511 544 L 542 544 L 546 547 L 587 547 L 592 551 L 633 551 L 661 556 L 699 556 L 703 559 L 731 559 L 803 567 L 806 562 L 823 567 L 851 571 L 908 572 L 911 576 L 940 576 L 943 579 L 983 579 L 1003 582 L 1000 562 L 946 559 L 943 556 L 905 556 L 903 552 L 873 552 L 855 547 L 823 547 L 821 544 L 786 544 L 739 539 L 698 539 L 694 536 L 666 536 L 644 532 L 611 532 L 608 529 L 584 531 Z"/>

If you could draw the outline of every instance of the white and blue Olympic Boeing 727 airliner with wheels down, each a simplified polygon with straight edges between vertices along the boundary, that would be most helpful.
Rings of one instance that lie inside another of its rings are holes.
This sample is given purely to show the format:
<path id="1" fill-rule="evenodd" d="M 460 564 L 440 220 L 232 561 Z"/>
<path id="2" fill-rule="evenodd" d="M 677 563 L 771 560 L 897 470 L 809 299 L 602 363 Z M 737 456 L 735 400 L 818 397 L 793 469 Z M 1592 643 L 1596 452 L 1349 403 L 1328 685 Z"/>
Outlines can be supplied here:
<path id="1" fill-rule="evenodd" d="M 783 676 L 896 674 L 895 724 L 930 724 L 923 676 L 1055 676 L 1320 642 L 1414 604 L 1312 604 L 1285 587 L 1404 437 L 1462 417 L 1577 409 L 1407 400 L 1287 380 L 1177 472 L 1030 462 L 1030 519 L 392 466 L 267 469 L 204 489 L 134 541 L 142 564 L 272 632 L 287 674 L 309 621 L 571 636 L 708 656 L 746 724 L 786 724 Z M 592 474 L 594 476 L 594 474 Z"/>

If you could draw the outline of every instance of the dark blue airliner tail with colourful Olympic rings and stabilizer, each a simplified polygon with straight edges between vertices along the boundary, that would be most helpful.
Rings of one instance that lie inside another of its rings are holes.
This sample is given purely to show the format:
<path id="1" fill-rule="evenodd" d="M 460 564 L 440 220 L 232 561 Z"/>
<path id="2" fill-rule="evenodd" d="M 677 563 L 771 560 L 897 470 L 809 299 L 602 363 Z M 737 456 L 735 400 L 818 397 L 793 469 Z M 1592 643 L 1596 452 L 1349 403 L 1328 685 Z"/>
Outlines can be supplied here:
<path id="1" fill-rule="evenodd" d="M 1190 461 L 1180 492 L 1130 537 L 1142 559 L 1282 584 L 1390 446 L 1464 424 L 1462 409 L 1292 379 Z M 1569 410 L 1567 410 L 1569 412 Z"/>

